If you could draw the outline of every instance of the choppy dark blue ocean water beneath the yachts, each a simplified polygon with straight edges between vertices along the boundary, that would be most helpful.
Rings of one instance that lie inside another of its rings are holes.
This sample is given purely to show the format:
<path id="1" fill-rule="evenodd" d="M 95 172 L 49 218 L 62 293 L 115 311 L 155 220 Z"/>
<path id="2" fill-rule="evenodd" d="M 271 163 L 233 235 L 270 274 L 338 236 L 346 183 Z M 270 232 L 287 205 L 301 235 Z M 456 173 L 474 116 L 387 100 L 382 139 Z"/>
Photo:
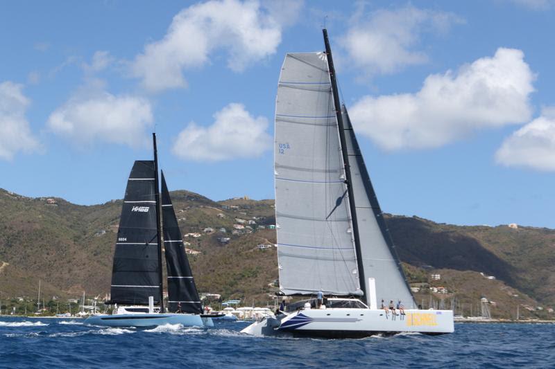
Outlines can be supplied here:
<path id="1" fill-rule="evenodd" d="M 555 325 L 456 324 L 454 334 L 284 339 L 198 329 L 122 329 L 79 319 L 0 318 L 1 368 L 555 368 Z"/>

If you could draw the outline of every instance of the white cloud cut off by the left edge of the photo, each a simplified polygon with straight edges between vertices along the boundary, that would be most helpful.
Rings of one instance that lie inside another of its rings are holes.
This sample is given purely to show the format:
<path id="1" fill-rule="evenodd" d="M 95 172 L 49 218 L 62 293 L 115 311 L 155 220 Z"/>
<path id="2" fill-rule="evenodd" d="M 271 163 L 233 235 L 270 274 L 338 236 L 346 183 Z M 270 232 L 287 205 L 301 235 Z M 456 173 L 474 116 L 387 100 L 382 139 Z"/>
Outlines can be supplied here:
<path id="1" fill-rule="evenodd" d="M 30 101 L 22 89 L 22 84 L 0 83 L 0 159 L 11 160 L 17 152 L 39 148 L 25 118 Z"/>

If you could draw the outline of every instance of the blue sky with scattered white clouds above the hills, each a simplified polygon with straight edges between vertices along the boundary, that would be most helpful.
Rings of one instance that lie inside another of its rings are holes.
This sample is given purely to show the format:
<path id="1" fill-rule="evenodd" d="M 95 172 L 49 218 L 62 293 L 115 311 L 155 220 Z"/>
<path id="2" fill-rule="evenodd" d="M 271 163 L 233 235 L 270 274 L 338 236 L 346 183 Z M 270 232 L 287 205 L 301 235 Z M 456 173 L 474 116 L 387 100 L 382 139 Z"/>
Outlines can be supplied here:
<path id="1" fill-rule="evenodd" d="M 321 51 L 382 209 L 555 228 L 555 3 L 0 4 L 0 188 L 123 196 L 156 130 L 169 188 L 273 198 L 284 54 Z"/>

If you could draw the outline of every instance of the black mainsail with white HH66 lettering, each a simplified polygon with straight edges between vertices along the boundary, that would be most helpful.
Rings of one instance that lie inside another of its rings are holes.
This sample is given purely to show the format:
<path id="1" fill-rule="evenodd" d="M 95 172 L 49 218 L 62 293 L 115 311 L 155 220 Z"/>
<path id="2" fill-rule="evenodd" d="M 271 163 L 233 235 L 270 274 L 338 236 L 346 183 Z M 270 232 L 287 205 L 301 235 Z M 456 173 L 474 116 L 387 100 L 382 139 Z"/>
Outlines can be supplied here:
<path id="1" fill-rule="evenodd" d="M 154 161 L 135 161 L 123 199 L 114 266 L 112 303 L 160 303 Z"/>

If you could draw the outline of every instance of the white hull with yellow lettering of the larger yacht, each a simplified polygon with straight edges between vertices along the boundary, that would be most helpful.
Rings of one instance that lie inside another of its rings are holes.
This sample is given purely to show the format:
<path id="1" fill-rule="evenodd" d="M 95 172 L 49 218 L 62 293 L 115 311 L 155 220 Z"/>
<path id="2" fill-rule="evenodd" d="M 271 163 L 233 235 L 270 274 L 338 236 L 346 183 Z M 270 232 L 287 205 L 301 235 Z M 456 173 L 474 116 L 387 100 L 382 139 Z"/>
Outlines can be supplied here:
<path id="1" fill-rule="evenodd" d="M 330 338 L 357 338 L 373 334 L 454 332 L 451 310 L 407 309 L 405 314 L 382 309 L 301 309 L 281 320 L 265 319 L 241 331 L 253 335 L 293 334 Z"/>

